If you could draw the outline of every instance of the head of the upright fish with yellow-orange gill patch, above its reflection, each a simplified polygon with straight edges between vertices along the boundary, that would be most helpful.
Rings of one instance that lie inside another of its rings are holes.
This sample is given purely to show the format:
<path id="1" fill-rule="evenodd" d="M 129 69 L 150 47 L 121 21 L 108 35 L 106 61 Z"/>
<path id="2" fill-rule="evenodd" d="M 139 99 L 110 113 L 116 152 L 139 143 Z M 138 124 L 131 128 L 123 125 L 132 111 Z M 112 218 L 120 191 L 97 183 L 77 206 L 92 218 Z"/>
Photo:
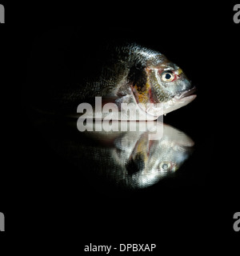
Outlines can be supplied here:
<path id="1" fill-rule="evenodd" d="M 148 114 L 158 117 L 186 106 L 196 98 L 196 88 L 186 74 L 162 54 L 148 61 L 144 78 L 134 82 L 132 90 L 138 106 Z"/>

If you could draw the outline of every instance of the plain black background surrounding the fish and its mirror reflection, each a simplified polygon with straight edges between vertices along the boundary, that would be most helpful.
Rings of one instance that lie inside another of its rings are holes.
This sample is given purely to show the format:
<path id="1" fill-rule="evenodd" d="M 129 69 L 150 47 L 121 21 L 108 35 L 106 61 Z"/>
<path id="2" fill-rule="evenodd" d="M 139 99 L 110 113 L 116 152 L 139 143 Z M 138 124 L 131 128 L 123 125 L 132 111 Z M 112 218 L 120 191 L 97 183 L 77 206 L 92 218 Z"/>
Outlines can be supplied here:
<path id="1" fill-rule="evenodd" d="M 6 241 L 80 254 L 90 242 L 155 242 L 158 253 L 231 250 L 239 211 L 236 2 L 1 3 L 0 211 Z M 34 40 L 68 24 L 92 34 L 121 31 L 178 63 L 198 87 L 194 102 L 164 118 L 198 145 L 178 178 L 122 198 L 98 186 L 91 190 L 81 170 L 33 129 L 21 98 Z"/>

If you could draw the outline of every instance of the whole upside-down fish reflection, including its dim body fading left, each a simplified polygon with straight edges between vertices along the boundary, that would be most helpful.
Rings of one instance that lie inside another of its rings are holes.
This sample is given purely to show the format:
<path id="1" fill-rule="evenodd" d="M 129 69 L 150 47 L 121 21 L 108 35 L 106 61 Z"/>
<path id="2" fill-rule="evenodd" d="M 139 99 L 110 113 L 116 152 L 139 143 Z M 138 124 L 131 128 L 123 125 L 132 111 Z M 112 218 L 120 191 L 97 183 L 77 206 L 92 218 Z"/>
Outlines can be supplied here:
<path id="1" fill-rule="evenodd" d="M 100 177 L 117 187 L 139 189 L 178 170 L 194 145 L 186 134 L 171 126 L 162 122 L 149 124 L 146 129 L 143 122 L 137 122 L 134 132 L 93 131 L 75 135 L 75 123 L 71 123 L 68 130 L 59 130 L 59 125 L 51 127 L 50 123 L 44 127 L 54 149 L 79 166 L 91 180 Z M 150 132 L 155 126 L 160 131 L 158 134 Z M 155 136 L 154 140 L 151 135 Z"/>

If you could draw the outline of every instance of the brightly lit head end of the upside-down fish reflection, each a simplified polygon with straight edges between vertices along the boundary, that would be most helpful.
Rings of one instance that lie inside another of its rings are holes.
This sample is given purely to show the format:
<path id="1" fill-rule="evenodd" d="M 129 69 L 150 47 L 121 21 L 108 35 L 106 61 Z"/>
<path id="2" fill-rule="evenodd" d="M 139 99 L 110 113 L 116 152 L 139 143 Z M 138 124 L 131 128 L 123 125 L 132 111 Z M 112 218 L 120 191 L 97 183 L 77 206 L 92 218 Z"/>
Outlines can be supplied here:
<path id="1" fill-rule="evenodd" d="M 144 188 L 154 185 L 178 170 L 189 156 L 194 142 L 186 134 L 162 125 L 162 122 L 157 126 L 162 126 L 158 130 L 163 129 L 158 140 L 150 140 L 149 131 L 137 136 L 128 132 L 115 139 L 112 155 L 122 168 L 125 186 Z"/>

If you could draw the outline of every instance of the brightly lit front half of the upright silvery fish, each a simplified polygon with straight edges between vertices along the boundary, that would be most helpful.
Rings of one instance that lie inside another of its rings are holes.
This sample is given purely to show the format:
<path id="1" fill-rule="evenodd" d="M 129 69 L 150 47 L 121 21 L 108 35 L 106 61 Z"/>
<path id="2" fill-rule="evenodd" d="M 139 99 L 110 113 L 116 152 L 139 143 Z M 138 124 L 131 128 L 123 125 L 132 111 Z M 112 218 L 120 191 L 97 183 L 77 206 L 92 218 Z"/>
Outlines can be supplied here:
<path id="1" fill-rule="evenodd" d="M 96 82 L 86 82 L 83 94 L 115 104 L 112 120 L 156 120 L 196 98 L 196 87 L 182 69 L 158 51 L 127 44 L 114 48 L 110 55 L 111 62 Z M 102 108 L 95 109 L 95 116 L 99 116 L 97 111 Z"/>

